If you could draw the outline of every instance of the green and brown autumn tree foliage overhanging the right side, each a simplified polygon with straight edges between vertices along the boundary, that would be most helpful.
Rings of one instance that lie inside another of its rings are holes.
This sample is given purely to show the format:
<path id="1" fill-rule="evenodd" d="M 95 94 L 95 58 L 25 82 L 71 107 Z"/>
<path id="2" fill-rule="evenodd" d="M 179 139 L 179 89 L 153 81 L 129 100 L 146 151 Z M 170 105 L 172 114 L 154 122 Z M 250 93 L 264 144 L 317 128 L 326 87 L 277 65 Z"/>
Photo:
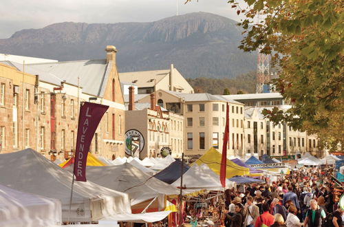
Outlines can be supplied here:
<path id="1" fill-rule="evenodd" d="M 343 1 L 244 0 L 228 3 L 244 14 L 240 49 L 272 55 L 279 78 L 275 86 L 292 102 L 286 112 L 265 111 L 275 122 L 317 133 L 325 147 L 344 144 Z M 256 21 L 260 13 L 264 18 Z"/>

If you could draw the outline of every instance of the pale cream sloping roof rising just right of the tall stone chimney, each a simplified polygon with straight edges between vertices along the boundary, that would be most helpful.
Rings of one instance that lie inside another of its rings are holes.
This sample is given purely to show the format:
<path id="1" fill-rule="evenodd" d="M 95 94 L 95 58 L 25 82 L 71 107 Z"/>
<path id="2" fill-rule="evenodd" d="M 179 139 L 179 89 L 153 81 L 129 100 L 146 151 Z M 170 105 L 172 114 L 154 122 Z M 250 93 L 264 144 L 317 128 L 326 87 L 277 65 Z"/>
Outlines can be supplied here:
<path id="1" fill-rule="evenodd" d="M 132 83 L 133 80 L 137 80 L 135 85 L 138 87 L 153 87 L 154 81 L 148 82 L 151 79 L 155 79 L 155 83 L 159 83 L 165 76 L 169 76 L 170 69 L 142 71 L 142 72 L 122 72 L 119 74 L 120 82 Z"/>

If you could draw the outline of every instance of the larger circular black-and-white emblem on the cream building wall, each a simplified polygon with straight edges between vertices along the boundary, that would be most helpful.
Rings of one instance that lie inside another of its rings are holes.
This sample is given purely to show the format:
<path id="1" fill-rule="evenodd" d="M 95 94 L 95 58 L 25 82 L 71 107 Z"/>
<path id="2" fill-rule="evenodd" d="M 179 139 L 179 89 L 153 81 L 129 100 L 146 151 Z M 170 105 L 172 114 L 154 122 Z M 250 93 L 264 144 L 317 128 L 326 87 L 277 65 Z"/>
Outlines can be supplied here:
<path id="1" fill-rule="evenodd" d="M 142 133 L 136 129 L 130 129 L 125 133 L 125 153 L 132 157 L 140 158 L 140 152 L 144 148 Z"/>

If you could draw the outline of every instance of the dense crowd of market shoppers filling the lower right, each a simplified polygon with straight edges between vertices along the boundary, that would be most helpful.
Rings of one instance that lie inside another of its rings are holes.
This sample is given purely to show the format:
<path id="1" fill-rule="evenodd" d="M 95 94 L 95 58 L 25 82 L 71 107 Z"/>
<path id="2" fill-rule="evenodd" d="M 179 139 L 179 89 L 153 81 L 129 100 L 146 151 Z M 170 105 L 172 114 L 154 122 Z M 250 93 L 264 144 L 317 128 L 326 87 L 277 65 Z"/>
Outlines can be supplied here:
<path id="1" fill-rule="evenodd" d="M 226 227 L 342 227 L 331 171 L 301 168 L 271 184 L 246 185 L 226 198 Z"/>

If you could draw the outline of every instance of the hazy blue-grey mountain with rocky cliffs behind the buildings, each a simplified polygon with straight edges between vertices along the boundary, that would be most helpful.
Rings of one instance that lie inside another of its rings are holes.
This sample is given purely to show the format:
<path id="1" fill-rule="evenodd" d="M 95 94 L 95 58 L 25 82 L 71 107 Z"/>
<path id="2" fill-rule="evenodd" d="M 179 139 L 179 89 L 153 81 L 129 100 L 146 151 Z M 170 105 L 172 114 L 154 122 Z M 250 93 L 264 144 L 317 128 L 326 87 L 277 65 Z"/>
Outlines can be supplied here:
<path id="1" fill-rule="evenodd" d="M 236 22 L 206 12 L 151 23 L 56 23 L 0 39 L 0 53 L 59 61 L 104 58 L 118 49 L 120 72 L 166 69 L 173 63 L 188 78 L 235 77 L 255 70 L 255 54 L 237 49 Z"/>

